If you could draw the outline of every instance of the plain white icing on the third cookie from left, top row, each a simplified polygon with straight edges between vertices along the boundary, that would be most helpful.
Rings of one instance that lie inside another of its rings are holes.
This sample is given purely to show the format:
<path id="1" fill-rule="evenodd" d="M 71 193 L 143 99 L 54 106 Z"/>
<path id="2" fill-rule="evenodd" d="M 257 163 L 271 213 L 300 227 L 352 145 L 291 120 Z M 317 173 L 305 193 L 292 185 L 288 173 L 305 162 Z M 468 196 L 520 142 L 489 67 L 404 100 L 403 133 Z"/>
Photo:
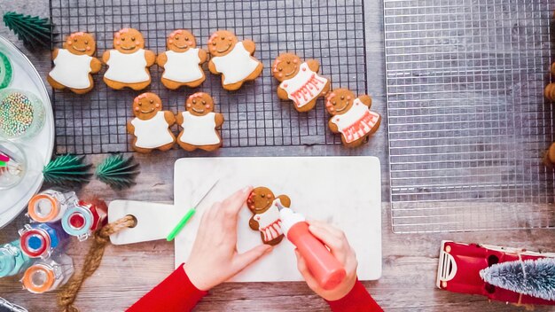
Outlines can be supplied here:
<path id="1" fill-rule="evenodd" d="M 164 65 L 162 78 L 174 82 L 194 82 L 202 78 L 199 63 L 199 48 L 184 52 L 166 51 L 168 61 Z"/>

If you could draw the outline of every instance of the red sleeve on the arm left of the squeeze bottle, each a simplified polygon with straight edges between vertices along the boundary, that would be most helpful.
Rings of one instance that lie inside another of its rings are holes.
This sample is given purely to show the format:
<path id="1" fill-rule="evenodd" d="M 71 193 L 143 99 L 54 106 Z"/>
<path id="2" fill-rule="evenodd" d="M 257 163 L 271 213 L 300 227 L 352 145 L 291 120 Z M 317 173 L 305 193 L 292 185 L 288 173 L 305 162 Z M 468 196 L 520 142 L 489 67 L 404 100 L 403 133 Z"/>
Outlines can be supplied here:
<path id="1" fill-rule="evenodd" d="M 143 298 L 135 302 L 127 311 L 190 311 L 207 293 L 192 285 L 182 264 L 166 277 L 163 282 L 154 287 L 152 291 L 146 293 Z"/>

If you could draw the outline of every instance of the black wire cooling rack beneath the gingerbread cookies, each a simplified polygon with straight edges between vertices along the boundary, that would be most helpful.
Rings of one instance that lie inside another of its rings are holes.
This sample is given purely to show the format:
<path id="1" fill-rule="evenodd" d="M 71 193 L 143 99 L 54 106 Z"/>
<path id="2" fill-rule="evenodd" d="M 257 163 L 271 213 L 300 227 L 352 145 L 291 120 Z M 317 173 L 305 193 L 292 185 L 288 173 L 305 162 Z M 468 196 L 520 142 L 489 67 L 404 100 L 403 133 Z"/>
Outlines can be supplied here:
<path id="1" fill-rule="evenodd" d="M 210 74 L 207 65 L 206 82 L 178 91 L 166 90 L 160 68 L 151 67 L 147 90 L 160 96 L 164 109 L 183 111 L 185 98 L 199 90 L 215 98 L 216 111 L 225 117 L 224 147 L 340 144 L 340 137 L 327 129 L 322 102 L 309 113 L 297 113 L 277 98 L 270 66 L 280 52 L 316 58 L 334 85 L 366 92 L 363 0 L 51 0 L 50 7 L 60 33 L 53 46 L 61 47 L 72 32 L 86 31 L 96 37 L 98 57 L 113 47 L 113 33 L 122 27 L 140 30 L 145 48 L 157 53 L 165 51 L 167 35 L 177 28 L 191 30 L 203 48 L 217 29 L 230 29 L 239 40 L 252 39 L 264 71 L 235 92 L 223 90 L 221 77 Z M 58 153 L 130 151 L 125 124 L 140 92 L 108 89 L 102 81 L 105 70 L 93 75 L 95 89 L 84 96 L 53 92 Z"/>

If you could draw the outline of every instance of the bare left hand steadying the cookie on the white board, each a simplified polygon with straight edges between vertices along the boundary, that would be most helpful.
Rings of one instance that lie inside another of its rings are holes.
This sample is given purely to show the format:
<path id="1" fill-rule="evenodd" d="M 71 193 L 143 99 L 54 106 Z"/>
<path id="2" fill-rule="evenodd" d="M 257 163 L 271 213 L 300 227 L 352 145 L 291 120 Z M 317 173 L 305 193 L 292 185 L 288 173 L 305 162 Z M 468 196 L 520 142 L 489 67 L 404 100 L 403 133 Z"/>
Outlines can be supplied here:
<path id="1" fill-rule="evenodd" d="M 222 203 L 215 203 L 200 220 L 185 273 L 199 290 L 207 291 L 235 276 L 272 246 L 256 246 L 246 253 L 237 252 L 237 220 L 241 207 L 253 190 L 251 186 L 236 191 Z"/>

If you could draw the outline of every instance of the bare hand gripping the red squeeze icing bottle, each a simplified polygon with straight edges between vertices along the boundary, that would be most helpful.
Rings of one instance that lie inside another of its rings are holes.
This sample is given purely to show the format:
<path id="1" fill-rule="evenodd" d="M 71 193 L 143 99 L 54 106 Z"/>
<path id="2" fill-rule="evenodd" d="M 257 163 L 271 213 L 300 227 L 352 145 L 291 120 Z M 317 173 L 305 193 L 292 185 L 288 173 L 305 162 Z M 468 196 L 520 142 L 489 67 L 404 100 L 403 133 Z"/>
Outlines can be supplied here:
<path id="1" fill-rule="evenodd" d="M 301 253 L 295 249 L 297 255 L 297 268 L 301 271 L 302 277 L 307 281 L 310 289 L 316 292 L 320 297 L 328 301 L 340 300 L 345 297 L 348 292 L 353 289 L 356 283 L 356 254 L 353 247 L 348 245 L 347 237 L 343 231 L 338 230 L 325 222 L 309 221 L 310 232 L 324 242 L 325 246 L 330 248 L 333 256 L 340 261 L 345 268 L 347 276 L 340 285 L 332 290 L 324 290 L 318 285 L 316 279 L 312 276 L 307 267 L 307 262 L 302 258 Z"/>

